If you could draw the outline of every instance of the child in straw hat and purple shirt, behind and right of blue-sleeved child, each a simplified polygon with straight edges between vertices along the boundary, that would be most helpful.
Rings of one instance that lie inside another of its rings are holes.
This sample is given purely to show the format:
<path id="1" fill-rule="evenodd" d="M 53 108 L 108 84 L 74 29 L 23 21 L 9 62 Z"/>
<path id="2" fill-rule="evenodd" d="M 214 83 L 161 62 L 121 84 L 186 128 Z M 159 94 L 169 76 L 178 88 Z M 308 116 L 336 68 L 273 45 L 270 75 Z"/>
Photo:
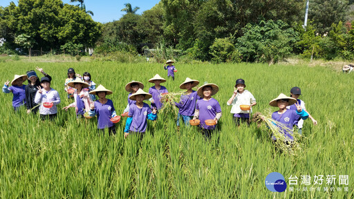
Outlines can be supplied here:
<path id="1" fill-rule="evenodd" d="M 150 99 L 151 106 L 160 110 L 162 107 L 162 103 L 160 102 L 161 94 L 169 92 L 165 86 L 160 86 L 160 83 L 166 82 L 166 79 L 156 74 L 154 77 L 149 79 L 149 82 L 155 84 L 155 86 L 149 88 L 149 93 L 152 95 L 152 98 Z"/>

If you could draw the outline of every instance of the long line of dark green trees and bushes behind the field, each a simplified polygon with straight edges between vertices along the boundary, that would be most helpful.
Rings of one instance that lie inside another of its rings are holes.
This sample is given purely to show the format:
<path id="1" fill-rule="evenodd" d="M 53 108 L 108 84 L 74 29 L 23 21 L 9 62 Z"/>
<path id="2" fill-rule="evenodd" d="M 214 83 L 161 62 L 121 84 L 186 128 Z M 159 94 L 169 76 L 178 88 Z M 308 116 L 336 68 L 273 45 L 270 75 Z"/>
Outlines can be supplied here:
<path id="1" fill-rule="evenodd" d="M 142 15 L 125 3 L 127 14 L 104 24 L 78 2 L 11 3 L 0 9 L 0 38 L 12 50 L 81 44 L 100 55 L 136 55 L 154 48 L 167 58 L 216 63 L 274 63 L 289 55 L 354 58 L 352 1 L 311 0 L 306 27 L 306 0 L 161 0 Z"/>

